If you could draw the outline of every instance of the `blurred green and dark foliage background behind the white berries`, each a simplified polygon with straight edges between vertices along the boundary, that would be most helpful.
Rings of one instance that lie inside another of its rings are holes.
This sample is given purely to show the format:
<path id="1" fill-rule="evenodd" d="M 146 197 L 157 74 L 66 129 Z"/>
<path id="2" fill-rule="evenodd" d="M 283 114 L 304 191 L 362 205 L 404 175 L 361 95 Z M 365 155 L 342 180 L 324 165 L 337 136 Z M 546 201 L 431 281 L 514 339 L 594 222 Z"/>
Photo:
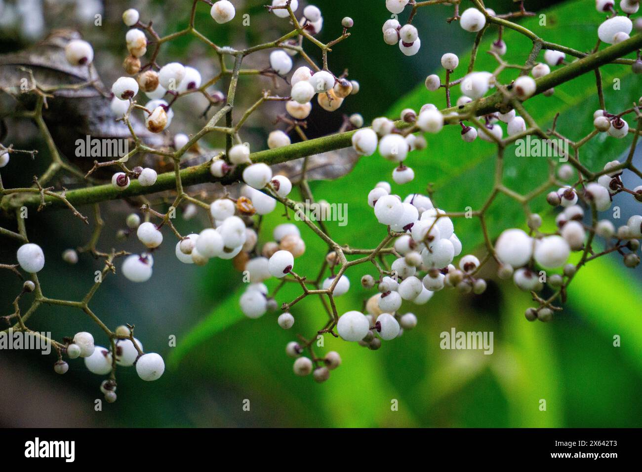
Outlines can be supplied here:
<path id="1" fill-rule="evenodd" d="M 2 3 L 0 1 L 0 3 Z M 94 61 L 105 83 L 119 76 L 125 54 L 126 28 L 120 15 L 134 6 L 144 20 L 152 19 L 157 31 L 169 33 L 184 28 L 189 16 L 189 0 L 109 2 L 4 0 L 0 14 L 0 53 L 25 48 L 42 39 L 52 28 L 74 28 L 92 42 Z M 229 25 L 216 26 L 205 4 L 198 6 L 196 25 L 219 44 L 255 44 L 278 37 L 287 31 L 284 21 L 265 13 L 265 1 L 234 1 L 237 14 L 250 13 L 250 26 L 239 25 L 240 18 Z M 467 2 L 464 1 L 464 6 Z M 304 4 L 301 2 L 301 4 Z M 444 107 L 441 94 L 427 92 L 422 83 L 427 74 L 437 72 L 446 52 L 460 55 L 467 64 L 473 36 L 445 19 L 452 8 L 435 6 L 420 10 L 414 24 L 419 28 L 422 48 L 412 58 L 403 56 L 394 46 L 381 40 L 381 24 L 388 18 L 383 0 L 351 2 L 319 0 L 324 14 L 320 39 L 327 42 L 340 33 L 340 21 L 354 19 L 352 37 L 336 46 L 330 55 L 334 73 L 349 69 L 349 77 L 358 80 L 361 92 L 351 96 L 334 114 L 317 110 L 309 119 L 311 137 L 336 131 L 342 113 L 360 112 L 366 123 L 376 116 L 395 116 L 404 107 L 419 109 L 433 102 Z M 515 8 L 512 1 L 489 1 L 497 12 Z M 596 27 L 602 15 L 593 0 L 571 3 L 527 1 L 529 10 L 546 12 L 546 25 L 539 19 L 525 24 L 546 39 L 588 50 L 594 46 Z M 300 10 L 301 10 L 300 6 Z M 546 8 L 550 8 L 546 10 Z M 299 10 L 299 11 L 300 11 Z M 102 15 L 102 26 L 94 26 L 94 15 Z M 407 15 L 407 13 L 406 13 Z M 402 15 L 403 18 L 403 15 Z M 162 34 L 161 33 L 161 34 Z M 496 30 L 482 44 L 488 49 Z M 523 62 L 528 41 L 506 35 L 507 60 Z M 316 51 L 308 48 L 313 56 Z M 187 38 L 162 49 L 160 61 L 180 60 L 197 65 L 207 76 L 216 71 L 213 55 L 195 40 Z M 252 57 L 251 64 L 267 66 L 267 56 Z M 480 70 L 492 70 L 493 60 L 480 54 Z M 460 66 L 462 67 L 462 66 Z M 621 89 L 605 87 L 609 110 L 621 110 L 638 100 L 642 89 L 638 78 L 625 67 L 603 68 L 604 83 L 620 78 Z M 560 112 L 559 130 L 571 139 L 582 136 L 592 125 L 593 110 L 598 108 L 592 74 L 558 87 L 550 98 L 539 96 L 529 101 L 529 110 L 550 125 Z M 510 77 L 506 74 L 502 77 Z M 283 83 L 274 88 L 268 78 L 243 79 L 238 94 L 239 105 L 256 100 L 261 89 L 287 93 Z M 458 95 L 456 91 L 455 97 Z M 202 121 L 194 110 L 202 103 L 178 104 L 177 117 L 169 132 L 195 132 Z M 244 139 L 253 148 L 265 147 L 265 138 L 273 129 L 279 105 L 266 107 L 249 123 Z M 280 105 L 282 107 L 282 105 Z M 8 143 L 21 148 L 46 150 L 33 131 L 33 125 L 20 123 L 9 130 Z M 406 188 L 394 186 L 402 196 L 424 191 L 435 184 L 437 204 L 451 211 L 463 211 L 468 205 L 478 207 L 492 185 L 493 146 L 476 141 L 464 146 L 456 130 L 444 130 L 429 137 L 428 149 L 415 152 L 408 164 L 417 179 Z M 620 157 L 627 143 L 596 139 L 582 160 L 592 168 Z M 627 141 L 629 140 L 621 140 Z M 216 138 L 211 146 L 220 145 Z M 638 164 L 641 155 L 636 156 Z M 543 159 L 519 159 L 507 152 L 505 182 L 525 193 L 537 186 L 545 175 Z M 29 180 L 33 171 L 44 165 L 39 160 L 12 159 L 2 170 L 5 186 Z M 335 240 L 354 247 L 374 247 L 383 237 L 372 211 L 365 202 L 367 192 L 379 180 L 390 180 L 392 166 L 380 157 L 361 159 L 352 173 L 332 182 L 312 182 L 317 198 L 348 205 L 348 224 L 340 227 L 329 222 Z M 625 184 L 639 185 L 630 176 Z M 410 188 L 412 186 L 412 188 Z M 639 203 L 630 198 L 616 198 L 623 224 L 631 214 L 639 213 Z M 100 246 L 116 245 L 139 251 L 139 243 L 126 243 L 114 237 L 125 227 L 131 211 L 125 204 L 102 205 L 107 227 Z M 534 202 L 545 224 L 553 225 L 555 211 L 542 202 Z M 89 213 L 88 208 L 84 208 Z M 611 214 L 601 215 L 609 218 Z M 279 211 L 265 219 L 262 241 L 270 239 L 272 228 L 282 222 Z M 182 233 L 198 232 L 204 221 L 178 218 Z M 499 198 L 489 212 L 489 226 L 496 236 L 502 228 L 524 226 L 519 205 Z M 308 250 L 297 259 L 297 272 L 316 275 L 325 252 L 324 245 L 301 226 Z M 457 220 L 455 230 L 464 243 L 464 251 L 482 254 L 478 223 Z M 40 273 L 46 295 L 59 299 L 80 299 L 92 284 L 94 270 L 100 263 L 81 256 L 75 266 L 68 266 L 60 254 L 89 238 L 89 230 L 65 212 L 51 212 L 28 220 L 32 241 L 44 248 L 47 265 Z M 166 234 L 169 240 L 169 234 Z M 0 261 L 15 258 L 15 243 L 0 240 Z M 336 350 L 342 366 L 333 371 L 329 381 L 315 384 L 311 378 L 298 378 L 291 369 L 285 345 L 295 333 L 310 336 L 325 320 L 317 301 L 301 302 L 293 309 L 296 322 L 290 331 L 276 324 L 278 313 L 268 313 L 258 320 L 245 319 L 238 309 L 243 289 L 241 274 L 229 261 L 217 260 L 206 267 L 178 263 L 173 243 L 155 252 L 152 279 L 145 284 L 128 283 L 121 276 L 107 277 L 96 293 L 92 309 L 108 326 L 135 324 L 137 338 L 145 350 L 164 356 L 167 371 L 159 381 L 146 383 L 133 369 L 119 369 L 118 401 L 94 411 L 94 400 L 101 398 L 101 378 L 88 372 L 82 360 L 70 362 L 64 376 L 53 372 L 55 358 L 39 353 L 0 352 L 0 425 L 2 426 L 634 426 L 642 424 L 642 306 L 641 270 L 623 267 L 618 256 L 594 261 L 576 277 L 569 290 L 566 310 L 548 324 L 529 323 L 523 317 L 530 306 L 530 296 L 512 284 L 498 282 L 493 267 L 485 276 L 489 290 L 480 296 L 460 296 L 440 292 L 424 306 L 404 306 L 419 318 L 419 326 L 403 337 L 385 342 L 373 352 L 356 344 L 325 338 L 320 352 Z M 371 294 L 358 283 L 361 275 L 374 274 L 371 267 L 359 266 L 347 272 L 352 289 L 338 299 L 340 312 L 359 309 Z M 272 288 L 275 284 L 271 283 Z M 0 273 L 0 315 L 12 311 L 11 301 L 21 283 L 8 272 Z M 282 290 L 279 302 L 295 297 L 295 287 Z M 494 353 L 482 351 L 442 351 L 440 333 L 450 331 L 493 331 Z M 94 333 L 104 344 L 98 329 L 80 311 L 62 307 L 41 308 L 32 319 L 31 328 L 51 331 L 55 338 L 77 331 Z M 168 337 L 177 337 L 177 346 L 168 347 Z M 614 347 L 614 336 L 621 346 Z M 250 411 L 243 401 L 250 400 Z M 391 401 L 399 402 L 392 411 Z M 539 409 L 546 400 L 546 411 Z"/>

